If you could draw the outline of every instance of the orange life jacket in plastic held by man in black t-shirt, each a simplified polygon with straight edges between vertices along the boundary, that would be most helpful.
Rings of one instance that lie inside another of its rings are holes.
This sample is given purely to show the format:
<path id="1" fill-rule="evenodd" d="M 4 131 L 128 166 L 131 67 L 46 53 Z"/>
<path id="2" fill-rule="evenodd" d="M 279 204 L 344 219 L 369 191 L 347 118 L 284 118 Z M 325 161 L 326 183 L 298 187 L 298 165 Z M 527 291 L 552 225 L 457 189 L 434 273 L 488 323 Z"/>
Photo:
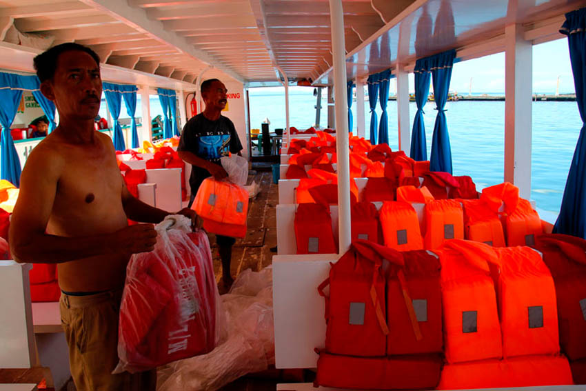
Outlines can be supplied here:
<path id="1" fill-rule="evenodd" d="M 206 178 L 197 190 L 192 209 L 203 219 L 203 228 L 208 232 L 246 236 L 248 192 L 242 186 Z"/>

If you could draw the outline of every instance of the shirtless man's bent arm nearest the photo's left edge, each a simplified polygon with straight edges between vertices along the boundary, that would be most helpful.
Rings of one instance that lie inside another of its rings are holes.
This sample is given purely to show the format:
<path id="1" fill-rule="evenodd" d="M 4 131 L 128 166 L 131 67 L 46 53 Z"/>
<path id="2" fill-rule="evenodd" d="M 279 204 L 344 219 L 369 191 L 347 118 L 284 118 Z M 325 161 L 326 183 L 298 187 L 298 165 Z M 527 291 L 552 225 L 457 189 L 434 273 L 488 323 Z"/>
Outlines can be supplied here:
<path id="1" fill-rule="evenodd" d="M 30 154 L 10 221 L 10 251 L 15 261 L 60 263 L 102 254 L 152 250 L 156 232 L 147 224 L 91 237 L 46 234 L 63 165 L 63 160 L 45 146 L 37 146 Z"/>

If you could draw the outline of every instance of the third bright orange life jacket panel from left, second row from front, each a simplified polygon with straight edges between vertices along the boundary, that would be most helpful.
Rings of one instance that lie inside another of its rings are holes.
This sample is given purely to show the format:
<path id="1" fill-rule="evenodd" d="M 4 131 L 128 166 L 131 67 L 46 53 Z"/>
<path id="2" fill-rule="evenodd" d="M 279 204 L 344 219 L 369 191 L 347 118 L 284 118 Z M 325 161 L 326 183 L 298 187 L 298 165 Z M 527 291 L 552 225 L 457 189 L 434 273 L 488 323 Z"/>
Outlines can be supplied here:
<path id="1" fill-rule="evenodd" d="M 481 241 L 494 247 L 505 247 L 503 225 L 498 213 L 488 208 L 481 199 L 465 199 L 464 230 L 465 237 L 472 241 Z"/>

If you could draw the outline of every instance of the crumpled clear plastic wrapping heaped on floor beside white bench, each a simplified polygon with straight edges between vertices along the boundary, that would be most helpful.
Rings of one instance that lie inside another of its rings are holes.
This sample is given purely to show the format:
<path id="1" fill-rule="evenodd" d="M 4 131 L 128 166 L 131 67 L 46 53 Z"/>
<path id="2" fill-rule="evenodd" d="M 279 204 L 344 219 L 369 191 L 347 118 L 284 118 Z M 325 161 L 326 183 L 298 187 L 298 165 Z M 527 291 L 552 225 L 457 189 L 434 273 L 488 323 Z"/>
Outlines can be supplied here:
<path id="1" fill-rule="evenodd" d="M 274 363 L 272 269 L 245 270 L 221 300 L 228 340 L 209 354 L 159 368 L 157 390 L 218 390 Z"/>

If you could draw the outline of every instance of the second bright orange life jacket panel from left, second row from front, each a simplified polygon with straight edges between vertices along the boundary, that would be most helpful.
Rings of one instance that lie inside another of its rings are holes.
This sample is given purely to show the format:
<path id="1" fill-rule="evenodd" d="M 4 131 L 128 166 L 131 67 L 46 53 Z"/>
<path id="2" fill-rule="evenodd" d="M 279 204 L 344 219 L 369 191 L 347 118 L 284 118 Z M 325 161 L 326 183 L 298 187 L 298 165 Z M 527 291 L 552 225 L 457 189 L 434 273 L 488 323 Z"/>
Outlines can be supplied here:
<path id="1" fill-rule="evenodd" d="M 454 199 L 425 204 L 425 249 L 435 250 L 446 240 L 464 239 L 462 205 Z"/>

